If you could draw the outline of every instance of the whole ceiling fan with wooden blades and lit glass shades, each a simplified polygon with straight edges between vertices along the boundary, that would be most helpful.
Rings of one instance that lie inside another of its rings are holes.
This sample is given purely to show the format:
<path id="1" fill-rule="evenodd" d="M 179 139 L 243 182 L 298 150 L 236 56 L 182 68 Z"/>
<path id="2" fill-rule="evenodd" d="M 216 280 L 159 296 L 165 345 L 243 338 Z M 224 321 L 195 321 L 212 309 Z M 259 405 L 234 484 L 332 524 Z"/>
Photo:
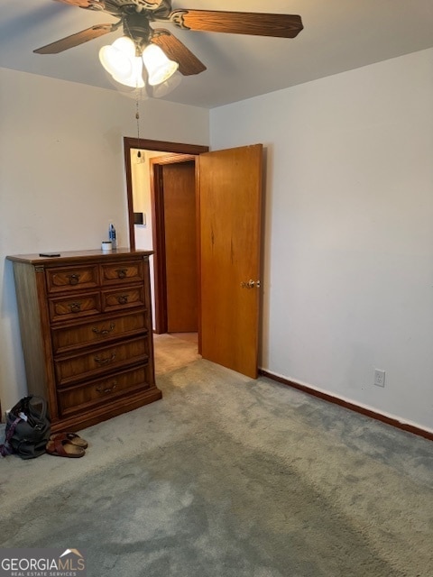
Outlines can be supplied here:
<path id="1" fill-rule="evenodd" d="M 58 54 L 109 32 L 115 32 L 122 25 L 124 36 L 117 38 L 111 46 L 104 46 L 99 50 L 99 60 L 110 75 L 110 82 L 113 79 L 127 87 L 142 88 L 147 78 L 147 83 L 152 89 L 147 87 L 146 92 L 155 97 L 168 94 L 168 91 L 177 86 L 176 81 L 179 84 L 177 70 L 182 76 L 190 76 L 204 72 L 206 66 L 170 30 L 155 29 L 152 23 L 172 23 L 180 30 L 274 38 L 295 38 L 303 29 L 301 17 L 297 14 L 172 10 L 172 0 L 57 0 L 57 2 L 88 10 L 100 9 L 119 19 L 115 23 L 90 26 L 86 30 L 70 34 L 33 52 Z M 142 72 L 138 72 L 137 57 L 143 58 L 146 69 L 144 77 L 143 65 Z M 158 87 L 158 90 L 153 90 L 154 87 Z"/>

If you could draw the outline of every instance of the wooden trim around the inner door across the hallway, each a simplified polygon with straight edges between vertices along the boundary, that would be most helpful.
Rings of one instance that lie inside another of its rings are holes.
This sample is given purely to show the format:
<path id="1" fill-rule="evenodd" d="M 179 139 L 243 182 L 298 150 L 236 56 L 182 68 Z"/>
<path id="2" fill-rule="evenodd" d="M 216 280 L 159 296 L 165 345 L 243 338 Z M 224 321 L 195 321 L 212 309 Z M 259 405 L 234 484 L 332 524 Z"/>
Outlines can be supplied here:
<path id="1" fill-rule="evenodd" d="M 168 164 L 195 162 L 194 154 L 169 154 L 149 159 L 152 205 L 153 275 L 155 294 L 155 333 L 168 331 L 167 275 L 165 270 L 165 219 L 162 169 Z M 197 224 L 196 224 L 197 227 Z M 199 274 L 199 272 L 198 272 Z"/>

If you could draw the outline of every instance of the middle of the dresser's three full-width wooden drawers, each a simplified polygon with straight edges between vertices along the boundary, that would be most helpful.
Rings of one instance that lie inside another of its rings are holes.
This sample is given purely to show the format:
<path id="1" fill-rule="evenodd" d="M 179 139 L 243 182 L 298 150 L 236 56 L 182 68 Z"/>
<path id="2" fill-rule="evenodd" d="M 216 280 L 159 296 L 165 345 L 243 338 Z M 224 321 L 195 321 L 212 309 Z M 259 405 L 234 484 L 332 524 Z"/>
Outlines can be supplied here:
<path id="1" fill-rule="evenodd" d="M 65 386 L 71 382 L 97 377 L 98 373 L 115 371 L 125 365 L 148 362 L 149 343 L 147 336 L 113 343 L 86 353 L 58 358 L 54 361 L 57 382 Z"/>

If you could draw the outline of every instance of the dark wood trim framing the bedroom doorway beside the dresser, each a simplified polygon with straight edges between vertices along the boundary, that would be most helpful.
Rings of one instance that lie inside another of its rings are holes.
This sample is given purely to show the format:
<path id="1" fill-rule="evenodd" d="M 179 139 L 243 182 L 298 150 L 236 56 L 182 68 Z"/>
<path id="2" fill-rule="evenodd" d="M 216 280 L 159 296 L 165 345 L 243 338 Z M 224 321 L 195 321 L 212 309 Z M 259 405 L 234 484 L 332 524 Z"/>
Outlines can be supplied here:
<path id="1" fill-rule="evenodd" d="M 177 154 L 192 154 L 195 156 L 201 154 L 202 152 L 209 151 L 208 146 L 201 146 L 199 144 L 153 141 L 143 138 L 137 139 L 136 137 L 133 138 L 130 136 L 124 136 L 124 171 L 126 176 L 126 198 L 128 204 L 129 246 L 132 251 L 135 250 L 133 175 L 131 169 L 131 150 L 134 148 L 147 151 L 172 152 Z"/>

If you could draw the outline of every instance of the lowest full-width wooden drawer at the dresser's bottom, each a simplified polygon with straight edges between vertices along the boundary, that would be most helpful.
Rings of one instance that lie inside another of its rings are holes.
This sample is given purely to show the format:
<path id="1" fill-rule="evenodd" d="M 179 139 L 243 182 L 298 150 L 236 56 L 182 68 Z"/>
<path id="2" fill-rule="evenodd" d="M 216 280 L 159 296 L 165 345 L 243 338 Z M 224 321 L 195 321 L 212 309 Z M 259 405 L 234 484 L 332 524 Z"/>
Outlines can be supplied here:
<path id="1" fill-rule="evenodd" d="M 149 389 L 145 366 L 117 372 L 103 379 L 92 380 L 83 385 L 58 390 L 60 413 L 63 417 L 91 408 L 92 405 L 109 403 L 116 397 L 134 390 Z"/>

